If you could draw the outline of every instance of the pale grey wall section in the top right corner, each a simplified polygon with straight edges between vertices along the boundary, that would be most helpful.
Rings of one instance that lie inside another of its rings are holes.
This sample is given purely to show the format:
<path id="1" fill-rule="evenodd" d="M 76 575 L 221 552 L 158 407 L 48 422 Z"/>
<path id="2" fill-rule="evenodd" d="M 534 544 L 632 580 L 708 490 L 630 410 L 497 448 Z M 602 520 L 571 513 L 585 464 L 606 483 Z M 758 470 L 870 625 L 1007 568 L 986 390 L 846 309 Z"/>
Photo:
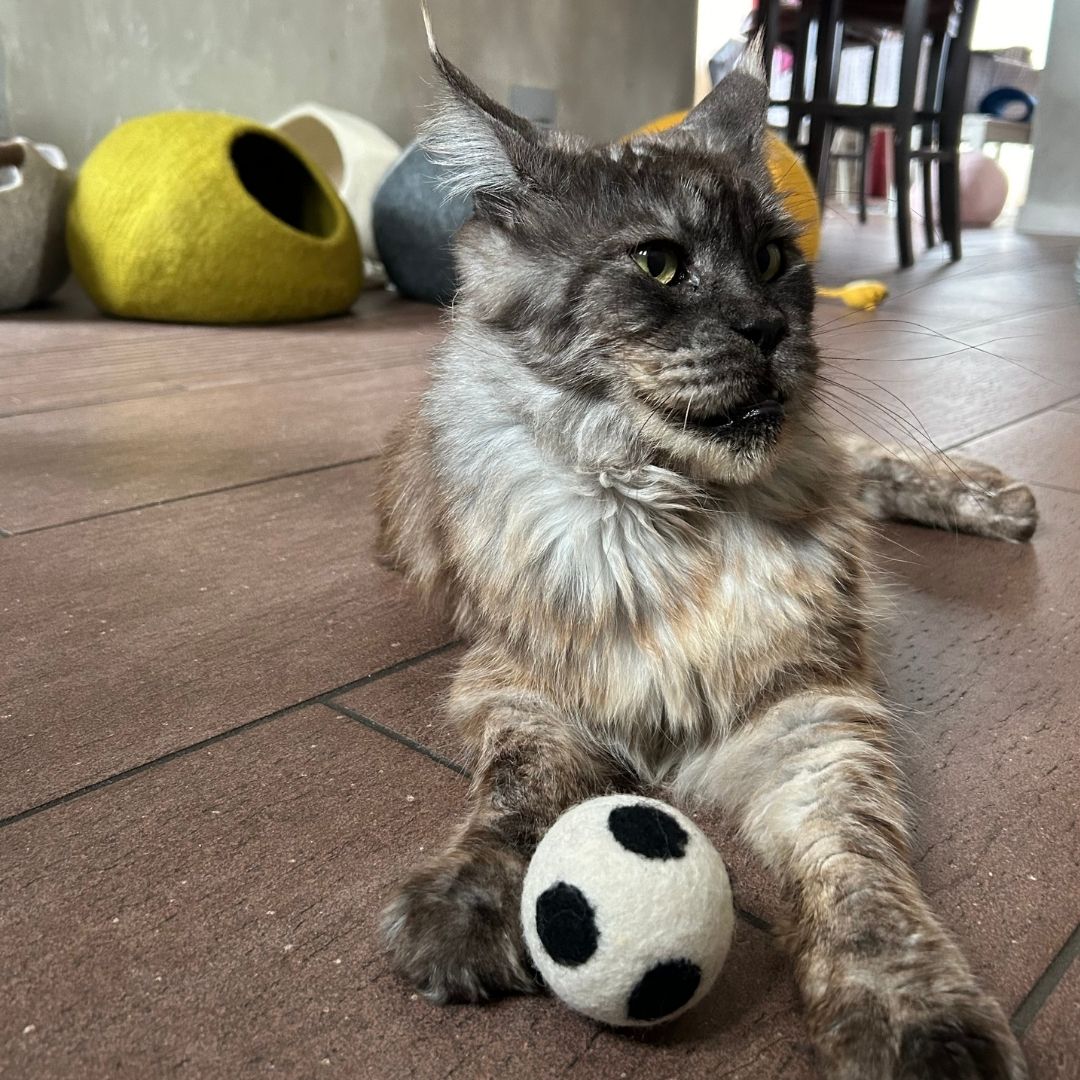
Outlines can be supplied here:
<path id="1" fill-rule="evenodd" d="M 1035 110 L 1031 179 L 1016 227 L 1080 237 L 1080 2 L 1057 0 Z"/>

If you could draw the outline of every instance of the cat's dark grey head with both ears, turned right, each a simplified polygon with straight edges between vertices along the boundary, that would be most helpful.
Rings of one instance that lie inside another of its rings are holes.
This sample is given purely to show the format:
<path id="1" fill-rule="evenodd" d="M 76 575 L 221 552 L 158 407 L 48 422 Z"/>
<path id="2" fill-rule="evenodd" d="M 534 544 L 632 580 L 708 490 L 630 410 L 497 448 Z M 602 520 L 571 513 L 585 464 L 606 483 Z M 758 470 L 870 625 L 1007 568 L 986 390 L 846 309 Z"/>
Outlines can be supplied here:
<path id="1" fill-rule="evenodd" d="M 596 147 L 515 116 L 431 48 L 448 94 L 426 143 L 475 207 L 460 316 L 550 382 L 618 403 L 654 460 L 729 483 L 767 469 L 816 356 L 764 81 L 737 70 L 678 126 Z"/>

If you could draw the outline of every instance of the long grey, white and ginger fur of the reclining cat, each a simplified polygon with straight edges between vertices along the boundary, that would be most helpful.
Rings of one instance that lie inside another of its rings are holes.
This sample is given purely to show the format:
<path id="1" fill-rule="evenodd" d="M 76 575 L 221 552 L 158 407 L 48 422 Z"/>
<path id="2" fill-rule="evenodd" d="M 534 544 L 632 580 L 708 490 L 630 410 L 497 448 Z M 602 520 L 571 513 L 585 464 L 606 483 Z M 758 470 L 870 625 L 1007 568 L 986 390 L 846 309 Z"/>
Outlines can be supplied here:
<path id="1" fill-rule="evenodd" d="M 593 148 L 433 55 L 449 94 L 428 145 L 476 213 L 380 508 L 387 552 L 470 640 L 449 707 L 476 767 L 464 823 L 387 912 L 397 967 L 435 1001 L 534 989 L 534 846 L 571 804 L 647 786 L 723 807 L 775 873 L 829 1077 L 1018 1080 L 909 866 L 867 540 L 870 516 L 1026 539 L 1030 492 L 829 434 L 752 71 L 670 133 Z M 676 285 L 631 258 L 654 239 L 687 254 Z M 762 240 L 787 262 L 769 284 Z M 770 391 L 782 423 L 706 430 Z"/>

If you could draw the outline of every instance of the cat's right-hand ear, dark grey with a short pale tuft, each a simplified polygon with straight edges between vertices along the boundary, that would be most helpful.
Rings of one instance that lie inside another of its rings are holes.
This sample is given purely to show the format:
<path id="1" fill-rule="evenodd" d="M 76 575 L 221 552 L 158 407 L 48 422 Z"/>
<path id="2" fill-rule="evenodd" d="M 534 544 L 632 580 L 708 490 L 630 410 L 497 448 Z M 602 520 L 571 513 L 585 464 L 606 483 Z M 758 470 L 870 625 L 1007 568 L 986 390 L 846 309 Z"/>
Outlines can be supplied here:
<path id="1" fill-rule="evenodd" d="M 708 150 L 758 160 L 765 153 L 769 86 L 761 36 L 757 35 L 726 75 L 673 131 Z"/>

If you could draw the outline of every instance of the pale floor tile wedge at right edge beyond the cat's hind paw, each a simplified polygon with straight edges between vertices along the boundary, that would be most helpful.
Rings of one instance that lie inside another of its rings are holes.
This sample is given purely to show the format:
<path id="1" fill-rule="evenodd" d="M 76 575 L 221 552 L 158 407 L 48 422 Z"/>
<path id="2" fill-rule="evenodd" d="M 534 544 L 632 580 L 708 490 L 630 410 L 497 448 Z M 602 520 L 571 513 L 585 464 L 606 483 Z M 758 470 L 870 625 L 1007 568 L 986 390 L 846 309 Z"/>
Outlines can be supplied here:
<path id="1" fill-rule="evenodd" d="M 1020 480 L 1080 491 L 1080 410 L 1063 406 L 1040 413 L 966 443 L 963 453 Z"/>

